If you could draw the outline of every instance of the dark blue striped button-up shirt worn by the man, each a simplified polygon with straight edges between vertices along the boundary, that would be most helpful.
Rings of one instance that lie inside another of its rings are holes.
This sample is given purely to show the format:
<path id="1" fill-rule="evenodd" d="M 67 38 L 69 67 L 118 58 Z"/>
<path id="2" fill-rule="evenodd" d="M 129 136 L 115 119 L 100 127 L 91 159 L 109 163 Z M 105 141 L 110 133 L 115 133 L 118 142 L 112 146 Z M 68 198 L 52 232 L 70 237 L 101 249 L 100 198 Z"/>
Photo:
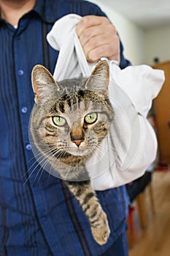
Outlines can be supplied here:
<path id="1" fill-rule="evenodd" d="M 46 34 L 68 13 L 104 15 L 86 1 L 38 0 L 20 18 L 18 29 L 0 20 L 0 255 L 101 255 L 125 225 L 125 188 L 97 192 L 111 236 L 104 246 L 61 180 L 38 165 L 31 151 L 28 122 L 34 105 L 31 69 L 44 64 L 53 73 L 58 52 Z M 120 67 L 129 62 L 120 43 Z M 64 61 L 64 60 L 63 60 Z"/>

